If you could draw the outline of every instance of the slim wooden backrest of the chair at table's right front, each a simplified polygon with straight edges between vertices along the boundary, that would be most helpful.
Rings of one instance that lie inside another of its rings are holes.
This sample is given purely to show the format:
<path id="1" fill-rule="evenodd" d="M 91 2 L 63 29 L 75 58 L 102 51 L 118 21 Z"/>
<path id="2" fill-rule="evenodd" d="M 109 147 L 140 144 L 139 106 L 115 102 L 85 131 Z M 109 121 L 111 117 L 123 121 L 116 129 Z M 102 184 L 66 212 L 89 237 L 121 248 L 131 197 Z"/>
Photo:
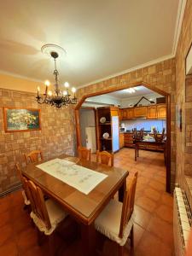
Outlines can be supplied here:
<path id="1" fill-rule="evenodd" d="M 125 225 L 129 222 L 132 212 L 134 210 L 137 175 L 138 175 L 138 172 L 135 172 L 134 177 L 131 178 L 131 181 L 128 184 L 128 189 L 125 191 L 122 213 L 121 213 L 120 229 L 119 229 L 120 238 L 123 237 Z"/>

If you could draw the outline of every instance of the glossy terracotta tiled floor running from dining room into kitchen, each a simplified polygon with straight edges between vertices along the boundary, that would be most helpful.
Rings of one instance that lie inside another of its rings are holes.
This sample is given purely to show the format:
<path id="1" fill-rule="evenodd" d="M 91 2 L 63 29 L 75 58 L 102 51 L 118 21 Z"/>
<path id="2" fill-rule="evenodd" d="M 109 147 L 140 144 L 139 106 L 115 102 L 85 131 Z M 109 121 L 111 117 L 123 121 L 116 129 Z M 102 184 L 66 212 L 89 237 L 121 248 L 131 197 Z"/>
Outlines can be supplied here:
<path id="1" fill-rule="evenodd" d="M 140 151 L 137 162 L 134 149 L 123 148 L 114 155 L 114 166 L 130 171 L 138 171 L 135 201 L 135 247 L 131 251 L 129 243 L 125 256 L 172 256 L 172 196 L 165 192 L 166 168 L 163 154 Z M 79 255 L 79 238 L 73 243 L 63 243 L 60 255 Z M 48 255 L 47 242 L 37 245 L 36 230 L 31 219 L 23 210 L 20 191 L 0 199 L 0 255 L 44 256 Z M 104 255 L 117 255 L 114 245 L 106 241 Z M 91 255 L 90 255 L 91 256 Z"/>

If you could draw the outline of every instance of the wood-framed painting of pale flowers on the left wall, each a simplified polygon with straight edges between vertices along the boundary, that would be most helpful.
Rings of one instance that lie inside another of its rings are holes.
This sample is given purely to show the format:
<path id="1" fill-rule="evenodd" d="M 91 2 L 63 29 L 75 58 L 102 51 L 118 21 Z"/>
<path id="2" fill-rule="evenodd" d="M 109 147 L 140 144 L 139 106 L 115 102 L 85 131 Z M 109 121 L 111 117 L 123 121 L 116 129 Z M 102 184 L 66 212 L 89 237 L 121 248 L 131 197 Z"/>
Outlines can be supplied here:
<path id="1" fill-rule="evenodd" d="M 41 130 L 40 109 L 3 108 L 4 131 Z"/>

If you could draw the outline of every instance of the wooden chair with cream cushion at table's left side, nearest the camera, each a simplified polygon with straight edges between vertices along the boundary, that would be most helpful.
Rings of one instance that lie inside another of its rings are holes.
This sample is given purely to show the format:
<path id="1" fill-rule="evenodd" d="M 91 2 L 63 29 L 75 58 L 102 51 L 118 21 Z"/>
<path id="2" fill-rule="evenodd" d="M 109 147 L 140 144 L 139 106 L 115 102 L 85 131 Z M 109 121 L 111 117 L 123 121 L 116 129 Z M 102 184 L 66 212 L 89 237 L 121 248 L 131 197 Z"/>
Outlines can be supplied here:
<path id="1" fill-rule="evenodd" d="M 24 177 L 24 182 L 28 188 L 32 206 L 30 216 L 38 229 L 38 245 L 41 245 L 42 234 L 49 236 L 49 253 L 55 255 L 54 233 L 59 224 L 67 217 L 67 213 L 55 201 L 51 199 L 44 201 L 42 190 L 31 180 Z"/>

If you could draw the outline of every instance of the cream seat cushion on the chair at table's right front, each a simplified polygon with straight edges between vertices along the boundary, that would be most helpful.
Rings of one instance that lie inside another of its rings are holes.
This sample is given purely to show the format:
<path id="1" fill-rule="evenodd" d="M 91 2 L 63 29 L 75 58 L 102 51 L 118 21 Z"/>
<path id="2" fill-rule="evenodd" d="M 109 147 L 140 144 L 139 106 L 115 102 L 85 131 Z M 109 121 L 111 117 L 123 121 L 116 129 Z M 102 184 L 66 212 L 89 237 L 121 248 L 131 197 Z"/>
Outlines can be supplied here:
<path id="1" fill-rule="evenodd" d="M 133 225 L 133 216 L 131 216 L 130 221 L 124 228 L 123 237 L 119 237 L 122 207 L 122 202 L 111 200 L 95 221 L 96 230 L 110 240 L 116 241 L 120 246 L 125 245 Z"/>

